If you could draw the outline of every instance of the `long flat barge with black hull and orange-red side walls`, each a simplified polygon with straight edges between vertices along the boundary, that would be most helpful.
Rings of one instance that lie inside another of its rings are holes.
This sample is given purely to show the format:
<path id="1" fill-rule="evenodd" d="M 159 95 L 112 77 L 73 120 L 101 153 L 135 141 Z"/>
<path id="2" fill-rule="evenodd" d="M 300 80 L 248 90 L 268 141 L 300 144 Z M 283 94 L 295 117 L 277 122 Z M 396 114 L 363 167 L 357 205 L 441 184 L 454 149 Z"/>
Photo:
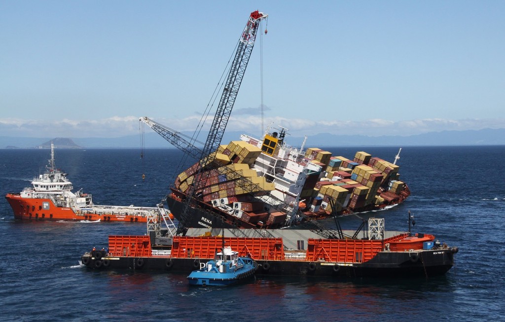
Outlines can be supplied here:
<path id="1" fill-rule="evenodd" d="M 81 262 L 92 270 L 162 271 L 189 274 L 223 244 L 258 262 L 257 275 L 326 277 L 431 277 L 455 263 L 457 247 L 429 234 L 384 231 L 369 219 L 363 238 L 321 238 L 310 230 L 193 229 L 186 236 L 109 236 L 108 250 L 92 250 Z M 226 237 L 224 237 L 226 236 Z M 100 247 L 100 246 L 99 246 Z M 99 249 L 97 247 L 97 249 Z"/>

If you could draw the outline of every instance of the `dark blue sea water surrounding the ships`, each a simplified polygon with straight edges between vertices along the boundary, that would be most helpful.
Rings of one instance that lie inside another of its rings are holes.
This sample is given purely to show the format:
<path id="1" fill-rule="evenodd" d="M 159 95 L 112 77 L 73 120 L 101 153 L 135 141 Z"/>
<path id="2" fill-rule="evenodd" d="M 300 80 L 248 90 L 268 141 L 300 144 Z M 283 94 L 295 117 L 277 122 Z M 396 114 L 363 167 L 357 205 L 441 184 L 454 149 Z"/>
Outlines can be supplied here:
<path id="1" fill-rule="evenodd" d="M 392 147 L 327 148 L 353 157 L 364 150 L 390 161 Z M 168 191 L 182 153 L 148 149 L 56 150 L 57 165 L 96 204 L 154 206 Z M 144 234 L 143 224 L 14 221 L 0 201 L 2 321 L 505 320 L 505 147 L 403 147 L 401 180 L 412 195 L 383 217 L 387 230 L 430 233 L 458 246 L 445 276 L 415 279 L 257 277 L 225 289 L 189 287 L 183 275 L 94 272 L 79 258 L 108 236 Z M 48 150 L 0 150 L 0 192 L 19 192 L 43 172 Z M 145 180 L 141 175 L 145 174 Z M 331 220 L 326 221 L 332 225 Z M 358 227 L 354 217 L 344 228 Z"/>

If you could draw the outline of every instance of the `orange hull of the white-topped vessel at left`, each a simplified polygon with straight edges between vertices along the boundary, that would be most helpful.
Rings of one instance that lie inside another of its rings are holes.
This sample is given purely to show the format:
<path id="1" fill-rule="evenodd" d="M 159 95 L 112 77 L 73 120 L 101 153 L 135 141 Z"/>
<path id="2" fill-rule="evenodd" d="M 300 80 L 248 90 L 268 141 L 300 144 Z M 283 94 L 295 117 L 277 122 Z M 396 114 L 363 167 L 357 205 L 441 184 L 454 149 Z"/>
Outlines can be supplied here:
<path id="1" fill-rule="evenodd" d="M 34 221 L 100 221 L 146 223 L 146 216 L 134 216 L 118 211 L 95 213 L 93 208 L 80 208 L 79 213 L 70 207 L 58 207 L 51 199 L 23 198 L 19 194 L 8 193 L 6 199 L 17 220 Z"/>

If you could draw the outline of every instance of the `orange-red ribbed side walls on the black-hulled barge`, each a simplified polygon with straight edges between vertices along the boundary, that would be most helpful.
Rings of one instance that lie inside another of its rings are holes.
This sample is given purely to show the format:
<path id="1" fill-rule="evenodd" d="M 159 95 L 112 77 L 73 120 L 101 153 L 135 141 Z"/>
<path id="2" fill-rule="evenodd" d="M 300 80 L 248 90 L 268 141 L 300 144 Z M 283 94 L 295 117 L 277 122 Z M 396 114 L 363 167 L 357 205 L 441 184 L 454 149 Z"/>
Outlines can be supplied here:
<path id="1" fill-rule="evenodd" d="M 408 237 L 401 234 L 382 240 L 363 239 L 309 239 L 305 260 L 357 263 L 367 262 L 389 244 L 392 251 L 422 249 L 423 242 L 432 241 L 433 235 Z M 282 238 L 225 237 L 226 246 L 238 251 L 239 256 L 256 260 L 286 260 Z M 222 237 L 174 236 L 170 257 L 214 258 L 223 246 Z M 303 250 L 300 250 L 301 252 Z M 110 256 L 153 257 L 148 236 L 109 236 Z"/>

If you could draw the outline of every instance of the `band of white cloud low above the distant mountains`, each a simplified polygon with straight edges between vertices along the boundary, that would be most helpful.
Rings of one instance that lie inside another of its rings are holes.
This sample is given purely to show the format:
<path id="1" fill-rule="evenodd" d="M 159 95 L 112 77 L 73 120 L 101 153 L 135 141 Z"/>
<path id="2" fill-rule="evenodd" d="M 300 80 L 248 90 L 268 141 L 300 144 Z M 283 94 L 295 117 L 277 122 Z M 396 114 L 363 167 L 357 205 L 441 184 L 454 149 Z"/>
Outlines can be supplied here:
<path id="1" fill-rule="evenodd" d="M 211 116 L 212 118 L 213 116 Z M 155 121 L 174 130 L 193 132 L 199 124 L 201 116 L 192 115 L 184 119 L 156 119 Z M 139 133 L 139 117 L 111 117 L 98 120 L 23 120 L 0 119 L 0 136 L 11 137 L 121 137 Z M 210 121 L 204 126 L 208 129 Z M 389 121 L 370 119 L 362 122 L 345 120 L 308 120 L 300 118 L 269 117 L 263 121 L 266 129 L 282 126 L 289 129 L 293 136 L 316 135 L 331 133 L 337 135 L 401 135 L 408 136 L 428 132 L 450 130 L 480 130 L 484 128 L 505 128 L 505 119 L 419 119 L 405 121 Z M 260 133 L 261 117 L 232 116 L 228 122 L 227 131 L 243 131 Z"/>

